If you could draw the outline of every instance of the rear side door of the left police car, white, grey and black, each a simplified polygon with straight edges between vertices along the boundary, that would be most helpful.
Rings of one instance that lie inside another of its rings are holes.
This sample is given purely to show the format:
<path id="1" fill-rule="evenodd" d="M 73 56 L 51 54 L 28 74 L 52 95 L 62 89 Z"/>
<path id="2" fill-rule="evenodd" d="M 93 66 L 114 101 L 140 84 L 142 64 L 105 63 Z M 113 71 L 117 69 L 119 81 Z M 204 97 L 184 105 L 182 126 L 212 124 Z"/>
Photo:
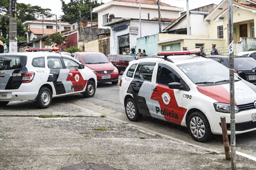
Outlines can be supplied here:
<path id="1" fill-rule="evenodd" d="M 66 93 L 66 79 L 67 79 L 67 70 L 64 69 L 63 62 L 60 57 L 57 56 L 48 56 L 47 57 L 47 66 L 50 69 L 48 82 L 52 82 L 55 88 L 53 95 L 61 95 Z"/>

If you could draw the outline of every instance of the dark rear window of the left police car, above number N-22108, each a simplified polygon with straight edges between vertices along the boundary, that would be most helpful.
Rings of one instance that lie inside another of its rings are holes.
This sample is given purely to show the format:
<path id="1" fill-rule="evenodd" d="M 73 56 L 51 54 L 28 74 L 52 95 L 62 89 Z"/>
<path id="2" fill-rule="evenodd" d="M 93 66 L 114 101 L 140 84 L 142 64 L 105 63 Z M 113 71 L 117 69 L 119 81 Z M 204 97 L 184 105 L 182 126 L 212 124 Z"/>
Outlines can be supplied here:
<path id="1" fill-rule="evenodd" d="M 20 69 L 26 66 L 27 57 L 18 55 L 0 56 L 0 70 Z"/>

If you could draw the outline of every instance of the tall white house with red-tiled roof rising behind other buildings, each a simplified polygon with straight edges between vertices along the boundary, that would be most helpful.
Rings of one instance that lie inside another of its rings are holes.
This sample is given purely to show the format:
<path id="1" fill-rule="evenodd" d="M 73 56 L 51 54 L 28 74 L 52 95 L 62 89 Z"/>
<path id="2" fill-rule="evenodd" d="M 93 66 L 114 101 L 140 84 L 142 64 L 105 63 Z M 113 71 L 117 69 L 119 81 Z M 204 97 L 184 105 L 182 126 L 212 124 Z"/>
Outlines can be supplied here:
<path id="1" fill-rule="evenodd" d="M 183 11 L 183 8 L 162 2 L 160 9 L 162 18 L 178 18 L 179 12 Z M 112 0 L 95 7 L 93 12 L 98 13 L 98 27 L 109 28 L 103 25 L 111 22 L 111 18 L 139 19 L 139 0 Z M 152 18 L 158 18 L 157 0 L 141 0 L 141 19 L 151 20 Z"/>

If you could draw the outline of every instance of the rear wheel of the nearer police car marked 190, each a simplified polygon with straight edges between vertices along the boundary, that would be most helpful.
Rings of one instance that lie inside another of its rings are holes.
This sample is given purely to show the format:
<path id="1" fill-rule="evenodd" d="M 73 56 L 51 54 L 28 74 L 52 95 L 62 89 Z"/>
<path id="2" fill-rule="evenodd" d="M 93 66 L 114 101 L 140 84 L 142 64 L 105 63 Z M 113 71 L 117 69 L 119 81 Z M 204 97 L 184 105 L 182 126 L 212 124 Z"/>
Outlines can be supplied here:
<path id="1" fill-rule="evenodd" d="M 125 101 L 125 113 L 130 121 L 137 122 L 141 119 L 142 115 L 139 113 L 134 99 L 129 98 Z"/>

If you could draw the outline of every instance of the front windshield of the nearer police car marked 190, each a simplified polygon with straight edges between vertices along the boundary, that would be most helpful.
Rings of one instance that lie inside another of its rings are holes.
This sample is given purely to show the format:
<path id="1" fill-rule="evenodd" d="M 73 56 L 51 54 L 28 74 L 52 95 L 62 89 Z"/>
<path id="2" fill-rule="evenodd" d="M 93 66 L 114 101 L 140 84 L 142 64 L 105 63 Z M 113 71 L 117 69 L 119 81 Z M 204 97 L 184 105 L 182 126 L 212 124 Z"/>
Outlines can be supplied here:
<path id="1" fill-rule="evenodd" d="M 229 83 L 229 70 L 215 61 L 192 62 L 177 66 L 198 86 Z M 239 80 L 235 75 L 235 81 Z"/>

